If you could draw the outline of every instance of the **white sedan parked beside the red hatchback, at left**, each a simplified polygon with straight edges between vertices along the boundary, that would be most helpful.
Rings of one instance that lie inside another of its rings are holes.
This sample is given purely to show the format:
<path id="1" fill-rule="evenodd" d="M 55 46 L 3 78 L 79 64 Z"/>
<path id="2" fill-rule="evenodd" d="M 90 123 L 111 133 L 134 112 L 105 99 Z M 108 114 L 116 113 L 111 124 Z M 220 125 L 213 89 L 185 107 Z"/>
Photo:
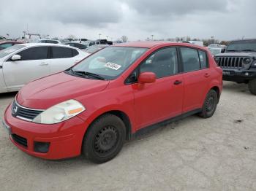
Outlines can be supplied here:
<path id="1" fill-rule="evenodd" d="M 18 44 L 0 51 L 0 93 L 18 91 L 34 79 L 69 69 L 89 55 L 62 44 Z"/>

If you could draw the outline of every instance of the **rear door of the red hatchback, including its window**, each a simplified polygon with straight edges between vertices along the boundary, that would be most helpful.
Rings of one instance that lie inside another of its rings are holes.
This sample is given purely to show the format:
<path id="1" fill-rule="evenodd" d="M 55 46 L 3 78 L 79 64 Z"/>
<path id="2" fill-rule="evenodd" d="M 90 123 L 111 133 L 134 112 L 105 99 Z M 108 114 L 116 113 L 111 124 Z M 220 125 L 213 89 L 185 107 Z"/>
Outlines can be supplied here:
<path id="1" fill-rule="evenodd" d="M 184 72 L 183 112 L 200 109 L 208 91 L 210 71 L 206 51 L 180 47 Z"/>

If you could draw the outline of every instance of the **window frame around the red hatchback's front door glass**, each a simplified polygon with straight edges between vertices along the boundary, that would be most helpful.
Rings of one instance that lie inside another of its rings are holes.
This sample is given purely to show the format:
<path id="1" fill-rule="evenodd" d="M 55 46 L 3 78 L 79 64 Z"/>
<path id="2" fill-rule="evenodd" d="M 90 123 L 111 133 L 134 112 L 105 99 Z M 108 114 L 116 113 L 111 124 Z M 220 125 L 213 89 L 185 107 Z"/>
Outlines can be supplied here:
<path id="1" fill-rule="evenodd" d="M 170 76 L 167 76 L 167 77 L 173 77 L 173 76 L 176 76 L 178 74 L 181 74 L 182 73 L 182 70 L 181 70 L 181 62 L 180 62 L 180 58 L 179 58 L 179 49 L 178 49 L 178 46 L 167 46 L 167 47 L 162 47 L 162 48 L 159 48 L 157 50 L 154 50 L 154 52 L 151 52 L 146 58 L 143 59 L 143 61 L 141 61 L 138 66 L 129 74 L 129 76 L 124 79 L 124 85 L 132 85 L 132 84 L 136 84 L 138 83 L 138 79 L 135 81 L 135 82 L 127 82 L 128 78 L 132 75 L 132 73 L 134 71 L 136 71 L 138 73 L 137 77 L 139 77 L 140 75 L 140 66 L 141 64 L 143 64 L 144 61 L 146 61 L 148 58 L 151 57 L 151 55 L 154 55 L 156 52 L 160 51 L 160 50 L 164 50 L 166 48 L 176 48 L 176 53 L 177 53 L 177 66 L 178 66 L 178 70 L 177 70 L 177 73 L 176 74 L 173 74 L 173 75 L 170 75 Z M 164 77 L 159 77 L 157 79 L 162 79 Z"/>

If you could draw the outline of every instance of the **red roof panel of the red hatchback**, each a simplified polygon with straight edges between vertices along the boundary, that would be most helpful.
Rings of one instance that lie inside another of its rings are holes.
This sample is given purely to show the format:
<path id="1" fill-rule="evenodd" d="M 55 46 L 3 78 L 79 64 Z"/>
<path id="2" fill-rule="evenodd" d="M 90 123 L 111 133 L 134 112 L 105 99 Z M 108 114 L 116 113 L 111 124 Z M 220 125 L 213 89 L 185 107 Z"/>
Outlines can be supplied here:
<path id="1" fill-rule="evenodd" d="M 184 47 L 196 47 L 206 50 L 206 47 L 201 47 L 196 44 L 184 43 L 184 42 L 162 42 L 162 41 L 146 41 L 146 42 L 126 42 L 120 44 L 114 44 L 113 47 L 144 47 L 152 48 L 157 46 L 184 46 Z"/>

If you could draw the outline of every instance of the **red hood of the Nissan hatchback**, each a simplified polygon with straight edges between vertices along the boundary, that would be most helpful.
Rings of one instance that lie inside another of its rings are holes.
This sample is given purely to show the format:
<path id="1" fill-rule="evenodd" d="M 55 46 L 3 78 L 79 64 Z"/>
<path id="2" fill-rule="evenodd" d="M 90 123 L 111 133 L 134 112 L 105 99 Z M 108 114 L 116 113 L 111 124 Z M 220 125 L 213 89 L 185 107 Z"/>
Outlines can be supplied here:
<path id="1" fill-rule="evenodd" d="M 105 90 L 108 84 L 109 81 L 74 77 L 61 72 L 30 82 L 20 90 L 16 99 L 21 106 L 48 109 L 62 101 Z"/>

